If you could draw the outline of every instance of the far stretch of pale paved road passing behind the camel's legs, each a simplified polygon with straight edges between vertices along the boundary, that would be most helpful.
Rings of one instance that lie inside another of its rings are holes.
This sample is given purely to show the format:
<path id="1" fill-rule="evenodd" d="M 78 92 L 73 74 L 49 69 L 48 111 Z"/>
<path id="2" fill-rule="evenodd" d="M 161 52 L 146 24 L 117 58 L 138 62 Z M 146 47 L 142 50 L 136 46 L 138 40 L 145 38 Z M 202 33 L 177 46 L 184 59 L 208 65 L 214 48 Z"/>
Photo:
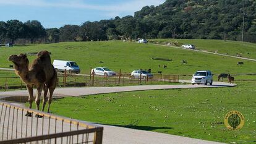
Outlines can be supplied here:
<path id="1" fill-rule="evenodd" d="M 180 80 L 180 82 L 190 82 L 189 80 Z M 96 95 L 103 93 L 117 93 L 125 91 L 142 91 L 142 90 L 166 90 L 180 88 L 217 88 L 217 87 L 234 87 L 236 84 L 224 82 L 213 82 L 213 85 L 137 85 L 127 87 L 68 87 L 56 88 L 54 91 L 55 97 L 63 96 L 85 96 Z M 34 95 L 36 90 L 34 90 Z M 9 96 L 28 96 L 27 90 L 5 91 L 0 92 L 0 98 Z"/>

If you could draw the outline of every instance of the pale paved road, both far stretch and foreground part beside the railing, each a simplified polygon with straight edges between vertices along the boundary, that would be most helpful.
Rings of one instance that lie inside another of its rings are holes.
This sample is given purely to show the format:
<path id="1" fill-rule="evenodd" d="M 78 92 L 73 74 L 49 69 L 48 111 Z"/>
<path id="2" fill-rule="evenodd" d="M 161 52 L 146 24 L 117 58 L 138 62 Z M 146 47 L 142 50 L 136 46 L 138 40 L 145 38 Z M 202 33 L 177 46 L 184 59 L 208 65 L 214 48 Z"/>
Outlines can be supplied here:
<path id="1" fill-rule="evenodd" d="M 190 82 L 189 80 L 181 80 L 181 82 Z M 122 91 L 140 91 L 140 90 L 162 90 L 177 88 L 216 88 L 216 87 L 234 87 L 235 84 L 213 82 L 213 85 L 140 85 L 129 87 L 89 87 L 89 88 L 57 88 L 54 96 L 84 96 L 95 95 L 100 93 L 116 93 Z M 27 90 L 0 92 L 0 98 L 10 96 L 27 96 Z M 195 138 L 181 137 L 177 135 L 169 135 L 165 133 L 149 132 L 144 130 L 127 129 L 123 127 L 114 127 L 110 125 L 102 125 L 104 127 L 103 143 L 106 144 L 218 144 L 199 140 Z"/>

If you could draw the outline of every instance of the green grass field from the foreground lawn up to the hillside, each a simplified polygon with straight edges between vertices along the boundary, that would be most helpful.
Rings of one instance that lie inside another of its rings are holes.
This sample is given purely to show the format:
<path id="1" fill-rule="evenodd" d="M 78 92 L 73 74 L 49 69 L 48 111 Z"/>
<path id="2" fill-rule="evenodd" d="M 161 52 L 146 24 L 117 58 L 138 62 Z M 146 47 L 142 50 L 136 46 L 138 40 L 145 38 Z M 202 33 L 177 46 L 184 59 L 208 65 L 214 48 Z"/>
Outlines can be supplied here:
<path id="1" fill-rule="evenodd" d="M 158 40 L 165 43 L 169 40 Z M 178 40 L 179 43 L 192 43 L 198 49 L 218 53 L 245 53 L 254 58 L 255 44 L 218 40 Z M 224 43 L 224 46 L 223 46 Z M 223 46 L 223 47 L 222 47 Z M 237 48 L 233 48 L 238 46 Z M 53 59 L 76 61 L 83 74 L 90 67 L 105 66 L 122 72 L 134 69 L 149 69 L 153 72 L 163 70 L 163 74 L 179 74 L 181 79 L 190 79 L 196 70 L 211 70 L 213 74 L 254 74 L 256 63 L 233 57 L 197 53 L 186 49 L 169 48 L 153 44 L 139 44 L 121 41 L 77 42 L 14 46 L 0 49 L 0 67 L 8 67 L 10 54 L 38 52 L 46 49 Z M 223 49 L 223 52 L 221 52 Z M 242 54 L 242 56 L 246 56 Z M 30 60 L 35 56 L 28 56 Z M 164 57 L 173 61 L 154 61 L 152 57 Z M 181 64 L 186 59 L 188 64 Z M 104 63 L 101 64 L 100 61 Z M 243 61 L 244 66 L 237 66 Z M 161 67 L 158 67 L 161 65 Z M 167 69 L 163 69 L 167 65 Z M 0 74 L 3 74 L 0 72 Z M 1 77 L 2 77 L 1 75 Z M 79 98 L 54 100 L 51 111 L 54 114 L 117 125 L 132 129 L 151 130 L 186 137 L 202 138 L 218 142 L 241 140 L 252 143 L 256 140 L 256 76 L 235 75 L 234 88 L 206 88 L 187 90 L 153 90 L 127 93 L 111 93 Z M 215 75 L 216 80 L 216 75 Z M 33 104 L 35 106 L 35 104 Z M 241 130 L 231 131 L 224 127 L 224 115 L 231 110 L 242 112 L 245 125 Z"/>

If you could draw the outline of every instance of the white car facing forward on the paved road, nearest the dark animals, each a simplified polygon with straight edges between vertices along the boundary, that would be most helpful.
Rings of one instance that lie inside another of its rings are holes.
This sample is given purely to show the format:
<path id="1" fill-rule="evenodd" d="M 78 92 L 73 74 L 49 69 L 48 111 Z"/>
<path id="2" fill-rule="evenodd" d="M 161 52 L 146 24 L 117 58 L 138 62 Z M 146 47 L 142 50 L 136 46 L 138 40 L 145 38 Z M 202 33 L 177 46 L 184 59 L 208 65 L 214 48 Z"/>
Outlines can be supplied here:
<path id="1" fill-rule="evenodd" d="M 197 71 L 193 75 L 191 83 L 192 85 L 194 85 L 195 83 L 204 85 L 210 83 L 210 85 L 213 85 L 213 75 L 211 74 L 210 70 Z"/>

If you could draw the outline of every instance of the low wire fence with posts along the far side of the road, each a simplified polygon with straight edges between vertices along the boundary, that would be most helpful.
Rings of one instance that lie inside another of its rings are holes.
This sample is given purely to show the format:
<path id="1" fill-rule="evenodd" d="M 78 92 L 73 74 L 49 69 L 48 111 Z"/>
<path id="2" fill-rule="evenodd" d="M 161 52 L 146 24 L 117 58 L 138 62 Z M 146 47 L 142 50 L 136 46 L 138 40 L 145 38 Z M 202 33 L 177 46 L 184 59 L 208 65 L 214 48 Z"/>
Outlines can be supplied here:
<path id="1" fill-rule="evenodd" d="M 58 87 L 112 87 L 124 85 L 160 85 L 178 83 L 179 75 L 153 74 L 153 77 L 139 75 L 133 77 L 127 73 L 120 73 L 109 77 L 95 74 L 69 74 L 67 71 L 58 73 Z M 0 89 L 22 89 L 25 84 L 19 77 L 0 77 Z"/>

